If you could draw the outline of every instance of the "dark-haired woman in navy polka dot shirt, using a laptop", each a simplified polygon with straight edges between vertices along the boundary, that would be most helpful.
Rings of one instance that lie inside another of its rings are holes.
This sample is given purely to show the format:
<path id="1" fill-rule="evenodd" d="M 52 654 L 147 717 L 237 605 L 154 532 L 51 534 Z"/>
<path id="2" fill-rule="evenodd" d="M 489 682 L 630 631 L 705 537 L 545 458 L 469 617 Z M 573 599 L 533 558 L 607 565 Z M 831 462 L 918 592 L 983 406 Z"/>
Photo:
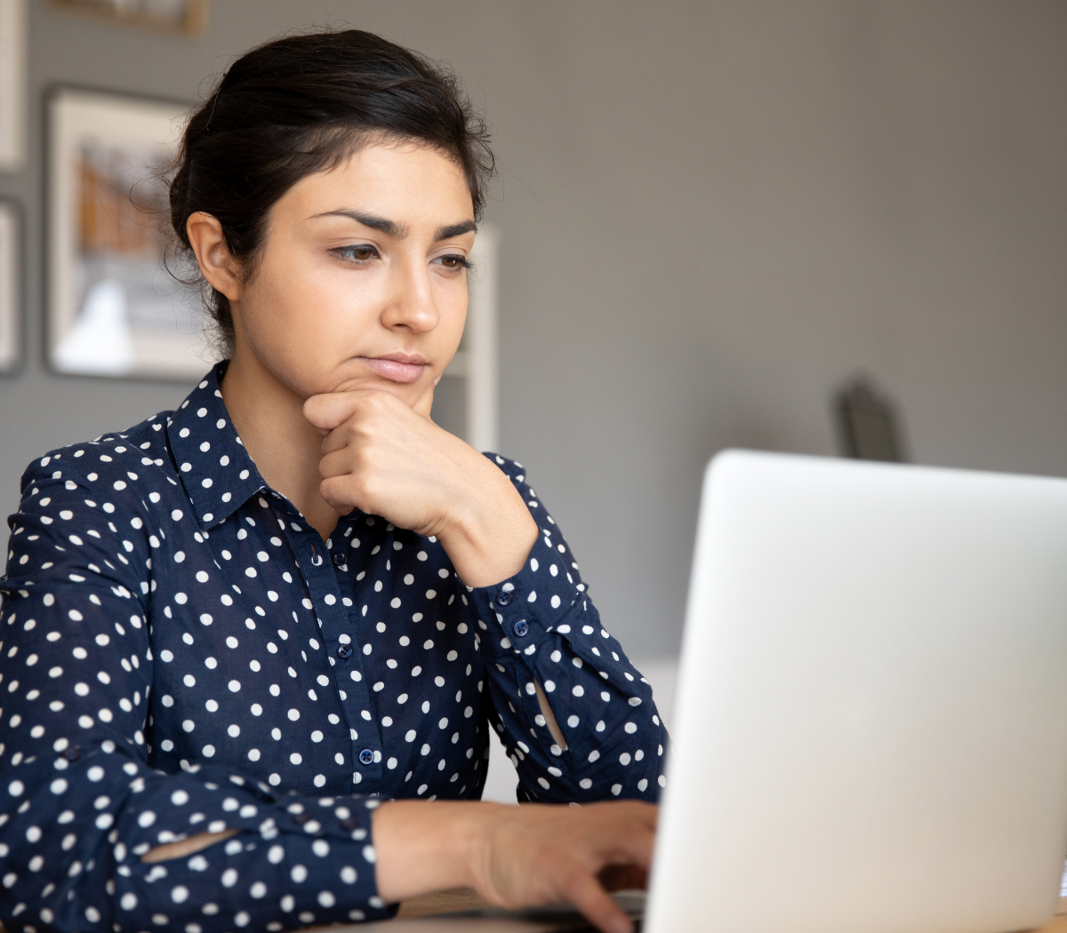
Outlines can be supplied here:
<path id="1" fill-rule="evenodd" d="M 598 874 L 649 863 L 651 690 L 522 466 L 430 420 L 491 167 L 455 80 L 357 31 L 249 52 L 192 116 L 172 223 L 229 359 L 32 464 L 10 520 L 10 933 L 459 885 L 630 929 Z M 610 803 L 480 803 L 490 726 L 521 800 Z"/>

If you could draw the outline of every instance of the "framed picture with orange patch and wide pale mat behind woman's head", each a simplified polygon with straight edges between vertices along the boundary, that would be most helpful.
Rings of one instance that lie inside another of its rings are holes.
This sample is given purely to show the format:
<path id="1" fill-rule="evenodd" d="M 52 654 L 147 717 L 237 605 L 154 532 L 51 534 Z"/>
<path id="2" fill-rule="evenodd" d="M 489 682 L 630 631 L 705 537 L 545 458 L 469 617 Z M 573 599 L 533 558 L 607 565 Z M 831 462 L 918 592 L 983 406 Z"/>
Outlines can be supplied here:
<path id="1" fill-rule="evenodd" d="M 214 356 L 198 295 L 163 266 L 181 103 L 59 89 L 48 99 L 52 369 L 190 380 Z"/>

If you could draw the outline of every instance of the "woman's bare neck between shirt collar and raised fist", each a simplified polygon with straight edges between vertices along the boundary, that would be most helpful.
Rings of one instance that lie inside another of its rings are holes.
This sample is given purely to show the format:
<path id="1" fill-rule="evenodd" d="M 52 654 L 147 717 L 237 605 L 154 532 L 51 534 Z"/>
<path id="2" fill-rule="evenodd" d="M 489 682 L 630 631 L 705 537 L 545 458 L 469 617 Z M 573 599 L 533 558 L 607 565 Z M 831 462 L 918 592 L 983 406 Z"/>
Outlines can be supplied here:
<path id="1" fill-rule="evenodd" d="M 322 434 L 304 418 L 304 402 L 251 352 L 238 348 L 223 377 L 222 400 L 259 474 L 325 541 L 338 513 L 319 495 Z"/>

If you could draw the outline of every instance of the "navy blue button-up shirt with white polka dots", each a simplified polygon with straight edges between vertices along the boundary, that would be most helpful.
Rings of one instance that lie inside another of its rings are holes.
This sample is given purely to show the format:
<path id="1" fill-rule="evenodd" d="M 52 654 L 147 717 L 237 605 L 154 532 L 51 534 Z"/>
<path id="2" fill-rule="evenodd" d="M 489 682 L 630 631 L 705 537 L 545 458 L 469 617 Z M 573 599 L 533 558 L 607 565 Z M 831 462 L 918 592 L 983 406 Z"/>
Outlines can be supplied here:
<path id="1" fill-rule="evenodd" d="M 477 800 L 488 729 L 520 801 L 654 801 L 667 734 L 520 464 L 541 530 L 471 589 L 360 512 L 323 542 L 219 391 L 33 463 L 0 580 L 0 920 L 213 933 L 389 916 L 370 811 Z M 564 737 L 552 737 L 542 686 Z M 149 849 L 238 835 L 156 864 Z"/>

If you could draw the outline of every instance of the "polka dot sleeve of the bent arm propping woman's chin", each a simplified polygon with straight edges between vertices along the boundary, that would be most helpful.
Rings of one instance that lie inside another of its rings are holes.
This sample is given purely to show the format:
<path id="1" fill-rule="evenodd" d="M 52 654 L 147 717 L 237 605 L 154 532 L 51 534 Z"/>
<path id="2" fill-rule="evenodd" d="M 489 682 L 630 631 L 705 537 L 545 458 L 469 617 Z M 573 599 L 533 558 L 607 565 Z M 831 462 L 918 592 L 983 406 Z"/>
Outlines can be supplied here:
<path id="1" fill-rule="evenodd" d="M 666 786 L 668 736 L 652 687 L 601 624 L 578 565 L 522 465 L 487 456 L 514 483 L 540 529 L 522 570 L 465 597 L 485 659 L 493 727 L 519 772 L 517 797 L 655 801 Z M 566 749 L 552 738 L 536 683 Z"/>

